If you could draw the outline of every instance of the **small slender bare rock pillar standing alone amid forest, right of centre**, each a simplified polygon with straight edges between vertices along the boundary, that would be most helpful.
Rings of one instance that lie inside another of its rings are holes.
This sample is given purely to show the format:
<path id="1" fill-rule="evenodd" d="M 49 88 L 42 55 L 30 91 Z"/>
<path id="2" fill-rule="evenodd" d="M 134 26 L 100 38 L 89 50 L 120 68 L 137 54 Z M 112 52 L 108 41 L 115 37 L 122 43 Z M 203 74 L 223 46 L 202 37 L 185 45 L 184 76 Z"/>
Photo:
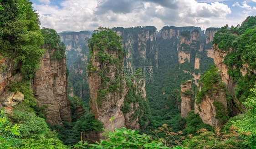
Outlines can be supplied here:
<path id="1" fill-rule="evenodd" d="M 194 109 L 193 89 L 191 88 L 192 81 L 188 80 L 180 85 L 181 87 L 181 106 L 180 106 L 180 117 L 185 118 L 189 111 Z"/>

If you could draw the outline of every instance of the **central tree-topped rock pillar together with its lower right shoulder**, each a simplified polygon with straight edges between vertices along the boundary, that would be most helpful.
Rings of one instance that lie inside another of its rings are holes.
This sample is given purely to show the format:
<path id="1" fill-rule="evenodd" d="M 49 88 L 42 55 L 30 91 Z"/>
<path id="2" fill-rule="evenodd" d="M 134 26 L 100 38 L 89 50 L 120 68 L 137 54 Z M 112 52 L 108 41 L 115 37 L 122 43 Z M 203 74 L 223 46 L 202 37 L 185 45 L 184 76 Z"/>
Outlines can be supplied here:
<path id="1" fill-rule="evenodd" d="M 120 37 L 110 29 L 99 28 L 93 33 L 89 47 L 92 57 L 87 73 L 92 114 L 108 130 L 112 130 L 112 124 L 114 128 L 138 129 L 138 119 L 143 116 L 142 102 L 146 100 L 145 91 L 144 86 L 138 88 L 143 84 L 142 79 L 131 82 L 133 80 L 123 72 L 125 51 Z M 113 117 L 111 124 L 109 119 Z"/>

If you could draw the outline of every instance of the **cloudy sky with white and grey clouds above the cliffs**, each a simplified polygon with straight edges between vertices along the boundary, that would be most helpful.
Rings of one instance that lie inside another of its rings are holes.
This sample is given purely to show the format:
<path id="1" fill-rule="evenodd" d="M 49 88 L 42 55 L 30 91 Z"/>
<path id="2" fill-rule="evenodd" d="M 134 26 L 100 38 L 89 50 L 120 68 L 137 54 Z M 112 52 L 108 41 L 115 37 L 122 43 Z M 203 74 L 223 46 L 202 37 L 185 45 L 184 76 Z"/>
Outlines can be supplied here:
<path id="1" fill-rule="evenodd" d="M 256 15 L 256 0 L 31 0 L 41 27 L 95 30 L 103 27 L 221 27 Z"/>

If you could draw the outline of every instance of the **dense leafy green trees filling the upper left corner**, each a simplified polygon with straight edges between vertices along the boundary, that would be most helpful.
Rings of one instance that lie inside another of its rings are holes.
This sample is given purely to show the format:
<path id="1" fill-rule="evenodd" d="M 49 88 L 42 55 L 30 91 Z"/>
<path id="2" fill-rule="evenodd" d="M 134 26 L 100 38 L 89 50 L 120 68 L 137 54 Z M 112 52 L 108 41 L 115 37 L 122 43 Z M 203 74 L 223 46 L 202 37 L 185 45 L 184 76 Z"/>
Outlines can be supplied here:
<path id="1" fill-rule="evenodd" d="M 0 5 L 0 59 L 8 57 L 21 63 L 27 78 L 40 66 L 45 52 L 38 15 L 28 0 L 1 0 Z"/>

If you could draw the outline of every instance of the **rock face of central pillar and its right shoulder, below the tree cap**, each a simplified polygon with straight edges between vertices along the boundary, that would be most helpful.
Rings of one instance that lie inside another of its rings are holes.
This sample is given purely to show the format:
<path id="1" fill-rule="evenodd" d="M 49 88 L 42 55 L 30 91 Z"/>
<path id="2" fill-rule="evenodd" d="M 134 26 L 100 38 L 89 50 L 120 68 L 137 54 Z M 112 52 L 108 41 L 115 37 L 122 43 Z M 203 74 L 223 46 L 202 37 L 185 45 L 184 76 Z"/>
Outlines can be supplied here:
<path id="1" fill-rule="evenodd" d="M 102 51 L 94 48 L 94 46 L 91 50 L 93 54 L 88 70 L 91 94 L 89 103 L 95 119 L 102 121 L 104 128 L 108 130 L 112 130 L 109 119 L 113 117 L 114 128 L 139 129 L 138 119 L 141 115 L 136 113 L 138 113 L 140 103 L 136 98 L 133 102 L 130 102 L 129 99 L 134 99 L 134 95 L 141 94 L 139 97 L 145 100 L 145 81 L 142 82 L 142 79 L 138 79 L 138 82 L 135 80 L 133 82 L 132 79 L 124 79 L 122 70 L 122 55 L 124 53 L 122 50 L 105 49 Z M 109 58 L 102 61 L 98 57 L 99 53 L 109 55 Z M 132 82 L 128 83 L 128 81 Z M 127 104 L 131 107 L 129 111 L 125 110 Z"/>

